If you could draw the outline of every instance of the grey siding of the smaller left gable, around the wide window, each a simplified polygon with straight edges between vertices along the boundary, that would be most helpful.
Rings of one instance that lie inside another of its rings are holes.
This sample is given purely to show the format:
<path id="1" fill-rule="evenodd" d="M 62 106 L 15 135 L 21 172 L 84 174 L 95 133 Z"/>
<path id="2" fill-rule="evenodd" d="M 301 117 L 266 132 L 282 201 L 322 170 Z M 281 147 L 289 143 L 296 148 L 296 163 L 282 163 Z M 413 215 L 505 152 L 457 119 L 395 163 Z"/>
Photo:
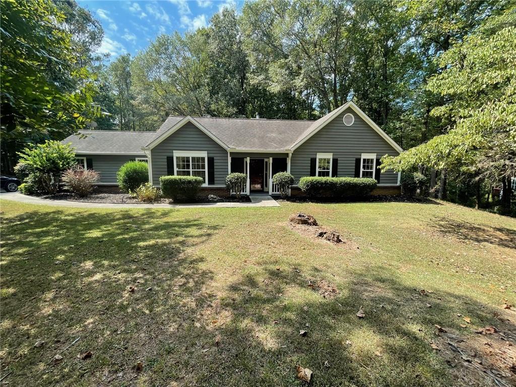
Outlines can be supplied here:
<path id="1" fill-rule="evenodd" d="M 215 185 L 225 185 L 228 175 L 228 151 L 188 122 L 151 151 L 152 183 L 159 185 L 160 176 L 167 175 L 167 156 L 175 151 L 207 151 L 214 158 Z"/>

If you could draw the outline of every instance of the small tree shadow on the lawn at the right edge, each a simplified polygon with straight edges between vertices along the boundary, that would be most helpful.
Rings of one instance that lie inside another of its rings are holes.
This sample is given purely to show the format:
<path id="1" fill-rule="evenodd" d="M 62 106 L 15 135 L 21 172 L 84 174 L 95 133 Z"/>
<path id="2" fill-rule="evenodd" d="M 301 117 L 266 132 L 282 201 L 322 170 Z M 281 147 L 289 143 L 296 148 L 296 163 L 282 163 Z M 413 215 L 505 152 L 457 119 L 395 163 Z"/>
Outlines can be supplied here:
<path id="1" fill-rule="evenodd" d="M 445 217 L 436 217 L 428 222 L 430 228 L 444 235 L 451 235 L 461 240 L 476 243 L 488 243 L 514 249 L 516 247 L 516 230 L 506 227 L 484 227 L 466 221 Z"/>

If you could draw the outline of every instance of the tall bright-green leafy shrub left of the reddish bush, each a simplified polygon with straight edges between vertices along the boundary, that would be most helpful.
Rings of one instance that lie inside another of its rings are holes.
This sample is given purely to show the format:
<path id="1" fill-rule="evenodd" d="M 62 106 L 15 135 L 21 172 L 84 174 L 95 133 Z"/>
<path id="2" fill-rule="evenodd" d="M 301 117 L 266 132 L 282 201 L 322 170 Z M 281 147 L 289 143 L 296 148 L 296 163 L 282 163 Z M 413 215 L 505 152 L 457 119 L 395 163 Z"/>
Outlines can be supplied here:
<path id="1" fill-rule="evenodd" d="M 34 147 L 25 148 L 18 153 L 18 169 L 25 179 L 32 175 L 35 184 L 46 193 L 56 193 L 59 188 L 61 173 L 75 165 L 75 152 L 70 144 L 61 144 L 59 141 L 45 141 Z"/>

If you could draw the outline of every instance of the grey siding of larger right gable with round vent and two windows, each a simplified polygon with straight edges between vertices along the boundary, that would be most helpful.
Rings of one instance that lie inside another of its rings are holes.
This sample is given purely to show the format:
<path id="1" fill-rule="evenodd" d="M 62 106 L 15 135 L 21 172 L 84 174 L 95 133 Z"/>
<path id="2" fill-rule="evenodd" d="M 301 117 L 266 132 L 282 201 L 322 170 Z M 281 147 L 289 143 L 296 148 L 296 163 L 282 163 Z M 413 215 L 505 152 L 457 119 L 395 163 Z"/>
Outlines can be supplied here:
<path id="1" fill-rule="evenodd" d="M 342 122 L 346 113 L 354 116 L 351 126 L 346 126 Z M 291 158 L 291 173 L 296 182 L 303 176 L 310 176 L 310 158 L 316 157 L 317 153 L 333 153 L 333 158 L 338 158 L 339 177 L 354 176 L 355 159 L 360 158 L 362 153 L 376 153 L 376 158 L 381 158 L 385 154 L 398 155 L 398 151 L 350 108 L 328 122 L 294 151 Z M 385 171 L 381 174 L 380 184 L 397 183 L 396 172 Z"/>

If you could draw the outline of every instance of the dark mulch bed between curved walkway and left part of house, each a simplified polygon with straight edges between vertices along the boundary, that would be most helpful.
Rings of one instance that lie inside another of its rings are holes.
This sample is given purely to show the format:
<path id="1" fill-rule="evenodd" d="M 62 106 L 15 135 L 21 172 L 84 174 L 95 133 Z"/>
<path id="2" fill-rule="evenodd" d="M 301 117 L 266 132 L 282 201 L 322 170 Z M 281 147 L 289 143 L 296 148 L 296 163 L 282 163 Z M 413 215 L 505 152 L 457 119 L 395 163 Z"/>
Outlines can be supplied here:
<path id="1" fill-rule="evenodd" d="M 142 203 L 138 199 L 135 199 L 127 193 L 107 193 L 107 192 L 95 192 L 86 198 L 80 198 L 75 196 L 73 193 L 61 192 L 56 195 L 45 195 L 41 196 L 41 199 L 51 200 L 67 200 L 72 202 L 85 202 L 85 203 L 110 203 L 110 204 L 175 204 L 170 199 L 158 199 L 152 203 Z M 216 202 L 250 202 L 249 197 L 241 197 L 236 199 L 231 198 L 219 198 Z M 215 203 L 215 201 L 198 200 L 195 203 Z"/>

